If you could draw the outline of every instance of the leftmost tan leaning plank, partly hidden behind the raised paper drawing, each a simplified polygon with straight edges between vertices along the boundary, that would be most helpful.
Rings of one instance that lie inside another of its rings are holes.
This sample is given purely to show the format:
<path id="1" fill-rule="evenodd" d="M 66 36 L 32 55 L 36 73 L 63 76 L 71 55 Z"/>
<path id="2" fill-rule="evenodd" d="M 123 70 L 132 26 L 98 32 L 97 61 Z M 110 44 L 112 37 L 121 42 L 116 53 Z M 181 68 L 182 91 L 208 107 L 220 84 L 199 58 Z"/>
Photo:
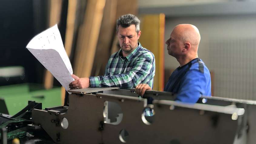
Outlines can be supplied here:
<path id="1" fill-rule="evenodd" d="M 52 27 L 60 21 L 62 0 L 51 0 L 48 7 L 50 8 L 48 24 Z M 48 70 L 45 71 L 44 87 L 45 89 L 53 87 L 53 76 Z"/>

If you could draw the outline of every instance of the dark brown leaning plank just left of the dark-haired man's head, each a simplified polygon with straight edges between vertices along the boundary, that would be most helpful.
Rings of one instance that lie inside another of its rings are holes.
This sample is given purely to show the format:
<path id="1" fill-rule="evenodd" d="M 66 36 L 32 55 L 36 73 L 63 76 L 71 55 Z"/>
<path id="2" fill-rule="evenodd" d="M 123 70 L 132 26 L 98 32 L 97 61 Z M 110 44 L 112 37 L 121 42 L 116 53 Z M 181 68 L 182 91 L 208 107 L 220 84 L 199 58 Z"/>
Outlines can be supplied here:
<path id="1" fill-rule="evenodd" d="M 117 9 L 117 0 L 106 0 L 104 14 L 101 23 L 100 37 L 98 39 L 95 58 L 91 75 L 104 75 L 105 67 L 110 57 L 110 48 L 112 37 L 115 32 L 115 15 Z M 99 58 L 100 57 L 100 58 Z"/>

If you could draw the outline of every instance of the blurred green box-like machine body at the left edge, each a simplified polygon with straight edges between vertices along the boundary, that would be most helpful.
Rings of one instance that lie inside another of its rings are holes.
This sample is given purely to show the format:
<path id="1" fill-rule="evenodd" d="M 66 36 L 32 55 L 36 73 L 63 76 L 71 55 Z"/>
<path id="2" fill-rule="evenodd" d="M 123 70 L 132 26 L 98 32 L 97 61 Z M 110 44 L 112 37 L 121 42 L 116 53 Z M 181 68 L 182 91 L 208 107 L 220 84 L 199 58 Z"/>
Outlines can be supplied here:
<path id="1" fill-rule="evenodd" d="M 61 106 L 61 87 L 45 90 L 42 84 L 36 83 L 1 86 L 0 99 L 5 101 L 9 115 L 18 113 L 28 105 L 28 101 L 42 103 L 43 109 Z"/>

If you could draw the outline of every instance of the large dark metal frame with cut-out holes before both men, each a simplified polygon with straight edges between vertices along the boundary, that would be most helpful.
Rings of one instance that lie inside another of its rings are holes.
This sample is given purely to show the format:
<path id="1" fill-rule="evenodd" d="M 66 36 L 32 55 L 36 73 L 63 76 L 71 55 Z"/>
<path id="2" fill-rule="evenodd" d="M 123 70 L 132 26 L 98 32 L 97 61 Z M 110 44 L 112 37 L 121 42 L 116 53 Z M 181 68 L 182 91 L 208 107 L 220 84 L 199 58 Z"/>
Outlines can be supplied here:
<path id="1" fill-rule="evenodd" d="M 69 106 L 32 110 L 33 124 L 57 143 L 233 144 L 244 114 L 232 106 L 175 102 L 168 92 L 144 98 L 117 88 L 69 92 Z"/>

